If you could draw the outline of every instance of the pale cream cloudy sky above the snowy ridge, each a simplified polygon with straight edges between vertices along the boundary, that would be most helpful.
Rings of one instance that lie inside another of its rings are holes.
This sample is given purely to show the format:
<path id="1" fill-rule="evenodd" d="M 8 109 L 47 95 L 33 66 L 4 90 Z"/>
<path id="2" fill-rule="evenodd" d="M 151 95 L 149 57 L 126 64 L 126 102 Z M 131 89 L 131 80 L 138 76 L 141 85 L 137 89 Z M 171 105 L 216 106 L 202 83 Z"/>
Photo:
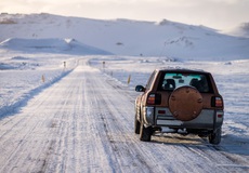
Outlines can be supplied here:
<path id="1" fill-rule="evenodd" d="M 149 22 L 166 18 L 226 30 L 249 23 L 249 0 L 0 0 L 0 12 Z"/>

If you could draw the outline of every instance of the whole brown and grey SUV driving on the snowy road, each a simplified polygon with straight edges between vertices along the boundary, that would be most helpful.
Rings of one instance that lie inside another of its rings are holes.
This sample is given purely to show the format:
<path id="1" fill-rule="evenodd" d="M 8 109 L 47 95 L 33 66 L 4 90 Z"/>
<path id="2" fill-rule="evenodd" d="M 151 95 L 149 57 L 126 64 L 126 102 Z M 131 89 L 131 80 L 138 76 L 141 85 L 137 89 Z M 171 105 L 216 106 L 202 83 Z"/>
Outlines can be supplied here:
<path id="1" fill-rule="evenodd" d="M 198 134 L 221 142 L 223 98 L 210 72 L 182 68 L 156 69 L 135 99 L 134 132 L 149 142 L 153 134 Z M 170 131 L 169 131 L 170 130 Z"/>

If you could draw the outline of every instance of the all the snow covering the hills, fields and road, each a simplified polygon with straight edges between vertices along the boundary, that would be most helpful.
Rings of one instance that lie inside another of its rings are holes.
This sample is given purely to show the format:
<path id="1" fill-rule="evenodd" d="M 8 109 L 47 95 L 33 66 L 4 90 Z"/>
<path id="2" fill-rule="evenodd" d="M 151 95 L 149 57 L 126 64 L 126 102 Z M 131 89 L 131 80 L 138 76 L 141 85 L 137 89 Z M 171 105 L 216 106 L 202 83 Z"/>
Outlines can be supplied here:
<path id="1" fill-rule="evenodd" d="M 1 14 L 0 22 L 0 172 L 248 172 L 248 39 L 169 21 Z M 134 86 L 167 66 L 213 75 L 225 103 L 219 146 L 170 133 L 143 143 L 133 133 Z"/>

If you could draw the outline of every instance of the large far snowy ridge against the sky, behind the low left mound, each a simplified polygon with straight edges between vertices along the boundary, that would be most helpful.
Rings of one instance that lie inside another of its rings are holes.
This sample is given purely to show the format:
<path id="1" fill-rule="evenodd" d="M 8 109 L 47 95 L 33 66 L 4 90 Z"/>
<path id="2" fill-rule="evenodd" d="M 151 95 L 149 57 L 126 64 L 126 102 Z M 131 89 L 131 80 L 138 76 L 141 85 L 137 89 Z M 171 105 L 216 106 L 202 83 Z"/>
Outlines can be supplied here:
<path id="1" fill-rule="evenodd" d="M 119 55 L 168 56 L 182 59 L 249 58 L 249 38 L 162 19 L 97 21 L 51 14 L 1 14 L 0 41 L 9 38 L 74 38 Z"/>

